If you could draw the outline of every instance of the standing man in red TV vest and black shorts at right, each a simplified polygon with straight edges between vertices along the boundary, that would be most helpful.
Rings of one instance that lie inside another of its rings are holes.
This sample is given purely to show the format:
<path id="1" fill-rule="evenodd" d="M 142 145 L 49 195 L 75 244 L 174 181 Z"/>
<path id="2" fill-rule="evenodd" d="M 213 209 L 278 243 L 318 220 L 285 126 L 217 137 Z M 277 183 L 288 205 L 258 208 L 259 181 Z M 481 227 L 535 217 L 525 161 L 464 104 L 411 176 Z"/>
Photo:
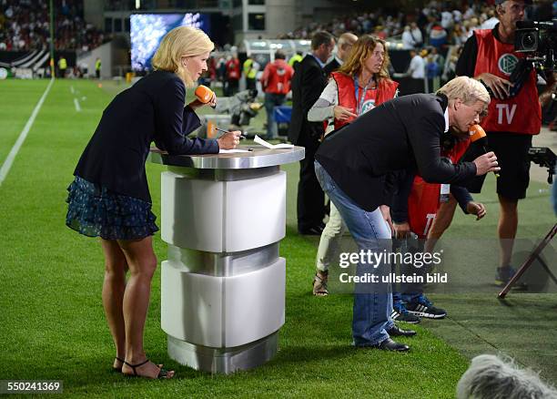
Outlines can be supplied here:
<path id="1" fill-rule="evenodd" d="M 489 146 L 497 154 L 501 166 L 501 176 L 497 179 L 501 209 L 498 225 L 500 264 L 495 278 L 498 285 L 505 285 L 514 274 L 510 262 L 518 227 L 518 200 L 526 197 L 530 182 L 528 149 L 532 147 L 532 135 L 540 133 L 542 127 L 535 69 L 522 74 L 521 81 L 510 80 L 517 65 L 526 65 L 519 62 L 525 55 L 514 51 L 514 36 L 516 23 L 524 19 L 525 8 L 530 4 L 532 1 L 496 0 L 499 24 L 493 29 L 474 31 L 464 45 L 456 67 L 457 75 L 480 80 L 491 94 L 488 115 L 481 125 L 487 131 Z M 548 88 L 551 86 L 548 84 Z M 518 87 L 520 89 L 515 92 Z M 473 159 L 479 150 L 472 145 L 465 159 Z M 480 192 L 484 178 L 475 179 L 469 186 L 470 191 Z M 430 230 L 430 238 L 441 237 L 451 223 L 455 207 L 454 199 L 441 206 Z"/>

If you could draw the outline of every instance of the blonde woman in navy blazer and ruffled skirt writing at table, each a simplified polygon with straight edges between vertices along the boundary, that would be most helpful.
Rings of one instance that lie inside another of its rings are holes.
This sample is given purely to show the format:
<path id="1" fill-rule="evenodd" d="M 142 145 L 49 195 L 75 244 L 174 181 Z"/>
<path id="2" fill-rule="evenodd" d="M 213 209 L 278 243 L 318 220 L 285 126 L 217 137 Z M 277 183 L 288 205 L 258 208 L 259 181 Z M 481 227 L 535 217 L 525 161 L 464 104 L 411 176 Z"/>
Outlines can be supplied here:
<path id="1" fill-rule="evenodd" d="M 151 280 L 157 269 L 152 236 L 158 230 L 145 162 L 153 141 L 170 154 L 218 153 L 219 148 L 238 145 L 238 131 L 218 139 L 186 137 L 200 126 L 195 109 L 202 105 L 195 100 L 185 107 L 186 87 L 207 70 L 213 47 L 196 28 L 181 26 L 168 32 L 153 57 L 155 71 L 106 107 L 68 188 L 66 225 L 101 240 L 103 305 L 116 346 L 113 367 L 121 373 L 174 376 L 150 362 L 143 349 Z"/>

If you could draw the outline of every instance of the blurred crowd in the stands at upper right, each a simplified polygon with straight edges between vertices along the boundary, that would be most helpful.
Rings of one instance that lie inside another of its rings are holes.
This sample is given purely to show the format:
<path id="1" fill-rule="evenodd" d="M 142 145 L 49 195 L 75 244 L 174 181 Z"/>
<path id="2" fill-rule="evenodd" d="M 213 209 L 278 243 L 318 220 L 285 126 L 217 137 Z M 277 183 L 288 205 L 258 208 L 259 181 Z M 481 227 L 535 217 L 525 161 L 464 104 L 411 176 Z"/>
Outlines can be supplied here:
<path id="1" fill-rule="evenodd" d="M 388 15 L 384 10 L 351 14 L 334 18 L 329 23 L 312 22 L 278 38 L 310 38 L 314 32 L 325 30 L 339 37 L 345 32 L 357 36 L 371 34 L 381 39 L 400 41 L 402 48 L 416 50 L 414 65 L 422 65 L 417 76 L 439 77 L 447 81 L 454 77 L 454 67 L 461 46 L 474 29 L 492 28 L 498 22 L 494 15 L 493 0 L 437 1 L 432 0 L 412 13 Z M 552 18 L 551 2 L 533 5 L 530 17 L 537 20 Z M 449 52 L 449 50 L 451 50 Z"/>

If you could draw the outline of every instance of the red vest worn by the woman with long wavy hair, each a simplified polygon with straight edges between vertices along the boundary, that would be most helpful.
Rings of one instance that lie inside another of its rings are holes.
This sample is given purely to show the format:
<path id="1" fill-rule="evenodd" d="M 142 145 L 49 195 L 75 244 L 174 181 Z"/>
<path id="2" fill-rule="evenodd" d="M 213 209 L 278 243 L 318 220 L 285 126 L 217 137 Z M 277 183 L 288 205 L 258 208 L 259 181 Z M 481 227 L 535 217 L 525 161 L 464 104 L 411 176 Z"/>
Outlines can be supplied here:
<path id="1" fill-rule="evenodd" d="M 340 72 L 333 72 L 330 76 L 335 79 L 337 83 L 337 90 L 339 94 L 339 106 L 354 109 L 356 111 L 356 87 L 354 87 L 354 79 L 352 77 L 341 74 Z M 361 106 L 361 113 L 369 111 L 373 107 L 379 106 L 385 101 L 389 101 L 395 96 L 397 92 L 397 87 L 399 84 L 390 79 L 380 79 L 379 86 L 377 90 L 368 90 L 366 92 L 366 97 L 364 97 L 364 103 Z M 350 123 L 355 118 L 349 118 L 348 120 L 337 120 L 335 119 L 335 129 L 341 128 L 344 125 Z"/>

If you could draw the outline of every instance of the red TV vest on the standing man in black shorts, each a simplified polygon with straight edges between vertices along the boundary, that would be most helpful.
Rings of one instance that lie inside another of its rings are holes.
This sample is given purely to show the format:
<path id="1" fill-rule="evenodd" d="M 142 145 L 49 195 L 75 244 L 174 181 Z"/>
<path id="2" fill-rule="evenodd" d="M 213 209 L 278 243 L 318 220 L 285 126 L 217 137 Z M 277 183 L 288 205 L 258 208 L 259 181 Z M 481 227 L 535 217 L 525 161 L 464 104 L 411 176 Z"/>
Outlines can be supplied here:
<path id="1" fill-rule="evenodd" d="M 516 53 L 511 44 L 495 39 L 491 29 L 475 30 L 478 41 L 478 58 L 474 77 L 488 72 L 503 79 L 509 79 L 522 53 Z M 542 128 L 542 107 L 538 101 L 536 71 L 526 78 L 519 94 L 500 100 L 491 98 L 488 116 L 481 120 L 487 132 L 502 131 L 517 134 L 537 135 Z"/>

